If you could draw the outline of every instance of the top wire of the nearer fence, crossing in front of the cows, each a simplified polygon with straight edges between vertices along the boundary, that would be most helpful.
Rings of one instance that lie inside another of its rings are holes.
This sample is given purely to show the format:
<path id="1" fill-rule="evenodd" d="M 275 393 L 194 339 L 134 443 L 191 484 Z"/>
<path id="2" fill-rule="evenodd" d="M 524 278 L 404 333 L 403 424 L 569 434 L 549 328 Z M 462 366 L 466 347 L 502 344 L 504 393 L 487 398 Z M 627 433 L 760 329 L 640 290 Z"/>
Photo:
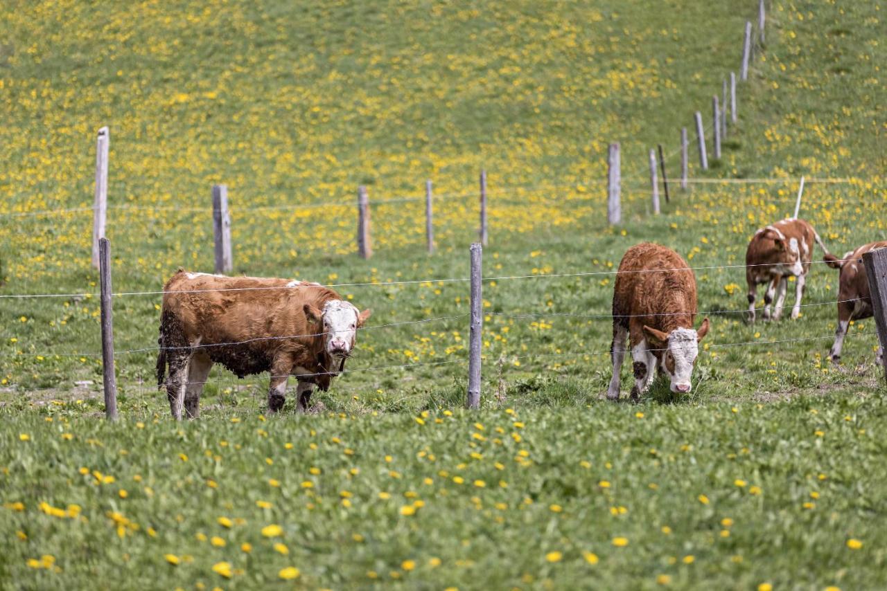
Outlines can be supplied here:
<path id="1" fill-rule="evenodd" d="M 847 262 L 847 261 L 855 261 L 860 262 L 861 260 L 855 259 L 836 259 L 836 261 L 810 261 L 809 264 L 828 264 L 829 262 Z M 805 263 L 807 264 L 807 263 Z M 601 276 L 601 275 L 629 275 L 634 273 L 666 273 L 669 271 L 708 271 L 719 268 L 749 268 L 749 267 L 773 267 L 773 263 L 755 263 L 752 265 L 745 264 L 736 264 L 736 265 L 710 265 L 707 267 L 676 267 L 676 268 L 642 268 L 635 269 L 630 271 L 620 271 L 618 269 L 610 270 L 610 271 L 587 271 L 582 273 L 552 273 L 552 274 L 539 274 L 539 275 L 512 275 L 512 276 L 491 276 L 491 277 L 483 277 L 481 281 L 506 281 L 511 279 L 546 279 L 546 278 L 556 278 L 556 277 L 584 277 L 584 276 Z M 239 277 L 229 277 L 232 279 L 237 279 Z M 169 292 L 164 291 L 153 291 L 153 292 L 117 292 L 112 293 L 111 295 L 115 298 L 121 298 L 124 296 L 138 296 L 138 295 L 166 295 L 168 293 L 204 293 L 204 292 L 262 292 L 267 290 L 288 290 L 295 289 L 300 287 L 323 287 L 323 288 L 333 288 L 333 287 L 365 287 L 365 286 L 375 286 L 375 287 L 389 287 L 391 285 L 407 285 L 407 284 L 443 284 L 443 283 L 465 283 L 467 281 L 471 281 L 470 277 L 444 277 L 444 278 L 435 278 L 435 279 L 410 279 L 404 281 L 380 281 L 380 282 L 364 282 L 364 283 L 354 283 L 354 284 L 306 284 L 302 283 L 299 285 L 294 285 L 292 287 L 287 287 L 287 285 L 271 285 L 264 287 L 219 287 L 214 289 L 200 289 L 200 290 L 170 290 Z M 0 294 L 0 299 L 19 299 L 19 298 L 98 298 L 98 293 L 89 293 L 89 292 L 80 292 L 80 293 L 6 293 Z"/>

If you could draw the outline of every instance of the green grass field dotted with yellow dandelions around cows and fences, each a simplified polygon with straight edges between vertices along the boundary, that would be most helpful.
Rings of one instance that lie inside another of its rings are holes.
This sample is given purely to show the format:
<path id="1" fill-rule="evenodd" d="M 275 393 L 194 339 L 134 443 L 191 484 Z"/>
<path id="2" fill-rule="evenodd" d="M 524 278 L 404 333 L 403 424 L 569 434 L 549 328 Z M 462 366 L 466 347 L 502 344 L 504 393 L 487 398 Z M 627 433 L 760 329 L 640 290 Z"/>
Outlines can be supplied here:
<path id="1" fill-rule="evenodd" d="M 881 587 L 874 322 L 855 323 L 843 365 L 829 367 L 836 272 L 813 266 L 797 321 L 750 326 L 739 267 L 755 229 L 792 213 L 800 175 L 849 179 L 805 189 L 802 217 L 834 253 L 883 239 L 881 7 L 768 4 L 723 157 L 702 171 L 691 150 L 690 175 L 785 181 L 672 186 L 663 214 L 649 212 L 648 150 L 663 144 L 677 176 L 679 128 L 692 137 L 700 110 L 708 129 L 711 95 L 738 71 L 757 12 L 745 4 L 0 9 L 0 295 L 98 291 L 81 210 L 102 125 L 115 292 L 155 292 L 178 267 L 211 270 L 212 183 L 229 186 L 235 273 L 381 283 L 341 288 L 373 308 L 377 328 L 358 336 L 355 371 L 315 396 L 315 415 L 294 416 L 290 400 L 263 421 L 267 380 L 214 369 L 204 417 L 182 425 L 153 385 L 156 294 L 114 299 L 113 425 L 98 420 L 98 298 L 0 299 L 0 580 Z M 616 228 L 601 184 L 613 141 Z M 467 284 L 385 283 L 467 276 L 484 167 L 484 275 L 536 277 L 484 284 L 493 314 L 473 415 L 459 410 Z M 426 178 L 438 196 L 433 256 Z M 360 183 L 371 200 L 416 198 L 373 206 L 368 262 L 354 254 Z M 598 400 L 611 273 L 642 240 L 699 268 L 712 330 L 691 396 L 659 384 L 640 406 L 613 405 Z M 541 277 L 590 272 L 601 275 Z M 137 349 L 149 350 L 124 353 Z M 415 363 L 428 365 L 369 370 Z M 281 535 L 264 537 L 266 525 Z M 290 566 L 299 577 L 281 579 Z"/>

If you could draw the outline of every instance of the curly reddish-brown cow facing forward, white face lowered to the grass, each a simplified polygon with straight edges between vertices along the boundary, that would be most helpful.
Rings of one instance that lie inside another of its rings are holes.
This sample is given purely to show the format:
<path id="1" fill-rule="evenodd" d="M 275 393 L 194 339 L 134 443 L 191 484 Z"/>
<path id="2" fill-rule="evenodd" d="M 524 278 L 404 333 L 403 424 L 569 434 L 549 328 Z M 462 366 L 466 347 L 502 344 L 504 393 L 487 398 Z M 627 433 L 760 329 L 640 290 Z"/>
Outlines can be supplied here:
<path id="1" fill-rule="evenodd" d="M 607 398 L 619 399 L 626 336 L 634 360 L 632 400 L 653 383 L 654 369 L 671 378 L 671 392 L 690 392 L 698 343 L 709 331 L 708 318 L 693 330 L 695 315 L 696 278 L 687 261 L 671 248 L 648 242 L 628 249 L 613 292 L 613 379 Z"/>

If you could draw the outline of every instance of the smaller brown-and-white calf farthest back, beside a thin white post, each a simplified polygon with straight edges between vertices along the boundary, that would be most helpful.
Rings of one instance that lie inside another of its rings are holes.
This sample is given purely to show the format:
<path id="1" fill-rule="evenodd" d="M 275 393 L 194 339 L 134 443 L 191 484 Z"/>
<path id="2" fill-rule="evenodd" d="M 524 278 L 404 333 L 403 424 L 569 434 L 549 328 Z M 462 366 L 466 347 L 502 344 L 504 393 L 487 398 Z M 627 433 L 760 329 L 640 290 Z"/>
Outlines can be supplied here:
<path id="1" fill-rule="evenodd" d="M 764 292 L 764 319 L 770 320 L 770 303 L 775 295 L 773 320 L 782 315 L 782 304 L 789 285 L 789 276 L 797 277 L 792 319 L 801 314 L 801 298 L 810 272 L 813 242 L 827 256 L 828 248 L 816 230 L 804 220 L 788 218 L 762 228 L 751 238 L 745 252 L 745 280 L 749 284 L 749 321 L 755 322 L 757 285 L 767 285 Z"/>

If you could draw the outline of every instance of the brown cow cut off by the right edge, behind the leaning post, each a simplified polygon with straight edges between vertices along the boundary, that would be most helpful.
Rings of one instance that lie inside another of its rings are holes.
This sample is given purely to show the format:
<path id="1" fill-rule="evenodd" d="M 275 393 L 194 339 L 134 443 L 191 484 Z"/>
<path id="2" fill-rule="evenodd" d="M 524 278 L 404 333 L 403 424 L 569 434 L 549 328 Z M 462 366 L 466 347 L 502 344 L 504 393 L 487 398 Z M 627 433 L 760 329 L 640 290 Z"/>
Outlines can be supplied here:
<path id="1" fill-rule="evenodd" d="M 837 288 L 837 328 L 835 329 L 835 344 L 828 352 L 828 359 L 832 362 L 841 361 L 841 348 L 844 346 L 844 335 L 851 320 L 861 320 L 875 315 L 872 307 L 872 296 L 868 292 L 868 279 L 866 266 L 862 264 L 862 255 L 875 248 L 887 247 L 887 240 L 870 242 L 862 245 L 855 251 L 845 253 L 841 259 L 833 255 L 826 256 L 826 263 L 831 268 L 841 269 Z M 875 361 L 878 365 L 883 361 L 883 347 L 878 346 Z"/>

